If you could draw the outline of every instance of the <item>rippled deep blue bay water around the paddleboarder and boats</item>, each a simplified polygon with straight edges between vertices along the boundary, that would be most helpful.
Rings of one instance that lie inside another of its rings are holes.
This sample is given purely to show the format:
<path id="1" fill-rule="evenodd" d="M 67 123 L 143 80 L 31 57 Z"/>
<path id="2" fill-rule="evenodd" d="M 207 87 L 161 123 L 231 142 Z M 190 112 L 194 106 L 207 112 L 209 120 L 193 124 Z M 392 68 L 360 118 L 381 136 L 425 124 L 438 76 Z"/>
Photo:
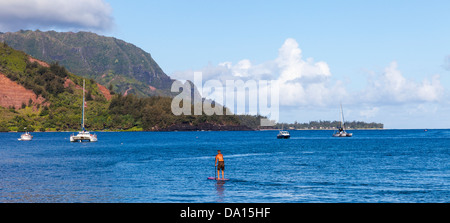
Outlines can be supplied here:
<path id="1" fill-rule="evenodd" d="M 450 202 L 450 130 L 351 132 L 0 133 L 0 202 Z"/>

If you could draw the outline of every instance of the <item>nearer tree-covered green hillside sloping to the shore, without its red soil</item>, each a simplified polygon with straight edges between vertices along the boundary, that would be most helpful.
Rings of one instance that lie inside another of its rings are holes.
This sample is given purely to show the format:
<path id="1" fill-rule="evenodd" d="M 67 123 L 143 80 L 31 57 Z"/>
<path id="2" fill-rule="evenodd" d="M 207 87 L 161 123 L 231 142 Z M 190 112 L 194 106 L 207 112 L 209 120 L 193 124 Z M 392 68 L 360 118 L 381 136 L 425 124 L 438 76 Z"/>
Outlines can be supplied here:
<path id="1" fill-rule="evenodd" d="M 36 102 L 26 98 L 20 108 L 0 106 L 0 131 L 24 131 L 25 128 L 28 131 L 80 130 L 83 106 L 80 86 L 84 78 L 68 72 L 58 63 L 47 66 L 32 61 L 24 52 L 6 43 L 0 44 L 2 78 L 6 77 L 45 99 Z M 0 89 L 8 87 L 0 82 Z M 3 98 L 0 94 L 0 100 Z M 85 126 L 91 131 L 251 130 L 242 126 L 237 116 L 204 113 L 175 116 L 171 112 L 172 98 L 168 96 L 113 94 L 108 100 L 93 79 L 86 81 L 86 100 Z"/>

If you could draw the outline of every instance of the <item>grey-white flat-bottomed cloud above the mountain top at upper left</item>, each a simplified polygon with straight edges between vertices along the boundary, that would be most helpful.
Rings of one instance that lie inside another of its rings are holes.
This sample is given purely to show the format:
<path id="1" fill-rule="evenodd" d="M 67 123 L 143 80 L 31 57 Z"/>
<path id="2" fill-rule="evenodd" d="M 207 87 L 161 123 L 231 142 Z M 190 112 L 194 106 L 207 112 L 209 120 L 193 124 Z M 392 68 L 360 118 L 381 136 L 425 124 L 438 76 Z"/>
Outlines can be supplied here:
<path id="1" fill-rule="evenodd" d="M 108 30 L 112 8 L 104 0 L 2 0 L 0 31 L 71 28 Z"/>

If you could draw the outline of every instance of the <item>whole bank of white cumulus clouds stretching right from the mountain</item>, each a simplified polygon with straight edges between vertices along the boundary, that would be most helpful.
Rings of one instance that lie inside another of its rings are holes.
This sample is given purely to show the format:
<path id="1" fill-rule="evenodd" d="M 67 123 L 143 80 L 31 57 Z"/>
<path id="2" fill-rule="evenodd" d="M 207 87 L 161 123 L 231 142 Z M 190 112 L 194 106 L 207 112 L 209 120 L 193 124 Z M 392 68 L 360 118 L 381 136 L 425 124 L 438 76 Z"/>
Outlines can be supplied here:
<path id="1" fill-rule="evenodd" d="M 363 106 L 359 115 L 364 118 L 376 117 L 383 106 L 433 103 L 444 96 L 439 75 L 417 81 L 403 75 L 396 61 L 383 71 L 372 72 L 362 89 L 349 92 L 343 81 L 332 78 L 326 62 L 304 58 L 299 44 L 291 38 L 285 40 L 273 60 L 259 64 L 248 59 L 237 63 L 222 62 L 209 64 L 199 71 L 203 83 L 208 80 L 219 80 L 223 84 L 227 80 L 274 80 L 279 87 L 280 106 L 335 108 L 342 102 Z M 192 80 L 193 73 L 192 70 L 180 71 L 171 76 Z"/>

